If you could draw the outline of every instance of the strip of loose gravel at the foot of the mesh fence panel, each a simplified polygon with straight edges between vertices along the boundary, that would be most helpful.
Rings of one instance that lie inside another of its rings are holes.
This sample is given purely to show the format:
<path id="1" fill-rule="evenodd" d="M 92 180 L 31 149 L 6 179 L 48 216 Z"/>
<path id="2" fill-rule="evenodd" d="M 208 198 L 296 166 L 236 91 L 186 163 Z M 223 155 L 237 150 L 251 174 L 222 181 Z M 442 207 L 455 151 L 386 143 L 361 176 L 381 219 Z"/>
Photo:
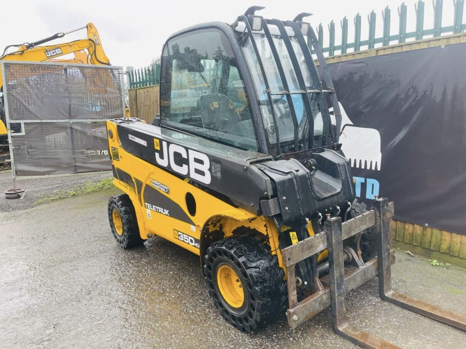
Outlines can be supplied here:
<path id="1" fill-rule="evenodd" d="M 112 174 L 101 173 L 96 175 L 74 175 L 68 177 L 41 177 L 34 179 L 16 180 L 16 188 L 24 189 L 21 199 L 5 200 L 5 191 L 14 188 L 11 170 L 0 171 L 0 212 L 8 212 L 31 208 L 39 199 L 50 197 L 55 191 L 69 190 L 75 186 L 82 186 L 88 181 L 97 182 L 111 178 Z"/>

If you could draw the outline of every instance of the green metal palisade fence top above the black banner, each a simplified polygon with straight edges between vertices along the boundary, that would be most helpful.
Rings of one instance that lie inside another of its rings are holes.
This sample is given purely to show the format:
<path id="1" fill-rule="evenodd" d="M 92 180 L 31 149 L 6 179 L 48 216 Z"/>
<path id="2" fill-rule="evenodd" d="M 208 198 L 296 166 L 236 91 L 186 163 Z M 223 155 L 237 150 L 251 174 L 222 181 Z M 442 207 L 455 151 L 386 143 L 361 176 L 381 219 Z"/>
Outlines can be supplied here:
<path id="1" fill-rule="evenodd" d="M 322 23 L 317 27 L 317 37 L 320 45 L 322 46 L 322 51 L 333 56 L 336 54 L 346 54 L 348 49 L 352 48 L 354 52 L 360 51 L 361 48 L 365 47 L 367 49 L 374 48 L 377 44 L 382 44 L 382 46 L 388 46 L 393 41 L 398 43 L 403 43 L 406 39 L 414 38 L 414 40 L 424 39 L 426 36 L 432 35 L 433 37 L 440 36 L 442 34 L 458 34 L 462 33 L 463 30 L 466 30 L 466 23 L 463 23 L 463 9 L 464 9 L 465 0 L 453 0 L 454 6 L 454 15 L 453 15 L 453 25 L 442 27 L 442 10 L 443 10 L 443 0 L 433 0 L 432 5 L 434 8 L 434 24 L 431 29 L 424 29 L 424 1 L 419 0 L 417 4 L 414 5 L 416 13 L 416 31 L 406 33 L 406 23 L 408 20 L 408 7 L 404 2 L 398 7 L 398 18 L 399 18 L 399 27 L 397 34 L 390 34 L 390 19 L 391 19 L 391 10 L 385 7 L 382 11 L 382 22 L 383 22 L 383 36 L 376 38 L 376 19 L 377 15 L 372 11 L 368 16 L 367 20 L 369 22 L 369 33 L 367 40 L 361 40 L 361 15 L 359 13 L 354 17 L 354 41 L 348 43 L 348 19 L 346 16 L 343 20 L 340 21 L 340 26 L 342 27 L 342 40 L 340 45 L 335 45 L 335 23 L 332 20 L 328 26 L 329 39 L 328 46 L 327 43 L 324 44 L 324 33 Z M 309 45 L 310 47 L 310 45 Z"/>

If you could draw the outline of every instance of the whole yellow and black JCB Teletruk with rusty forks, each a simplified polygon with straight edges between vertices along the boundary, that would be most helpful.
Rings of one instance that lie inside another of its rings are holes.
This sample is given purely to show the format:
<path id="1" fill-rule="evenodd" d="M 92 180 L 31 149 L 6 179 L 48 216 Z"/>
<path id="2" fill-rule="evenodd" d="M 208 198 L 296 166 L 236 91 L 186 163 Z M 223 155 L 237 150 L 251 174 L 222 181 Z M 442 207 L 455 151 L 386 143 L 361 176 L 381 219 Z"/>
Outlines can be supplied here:
<path id="1" fill-rule="evenodd" d="M 160 114 L 152 124 L 107 121 L 124 192 L 108 206 L 117 243 L 158 235 L 199 255 L 215 306 L 244 332 L 287 308 L 295 328 L 331 306 L 336 333 L 395 348 L 347 322 L 345 293 L 376 275 L 384 300 L 466 329 L 464 315 L 391 289 L 394 206 L 377 198 L 367 211 L 355 200 L 309 14 L 267 20 L 255 14 L 261 8 L 231 25 L 173 34 L 162 53 Z"/>

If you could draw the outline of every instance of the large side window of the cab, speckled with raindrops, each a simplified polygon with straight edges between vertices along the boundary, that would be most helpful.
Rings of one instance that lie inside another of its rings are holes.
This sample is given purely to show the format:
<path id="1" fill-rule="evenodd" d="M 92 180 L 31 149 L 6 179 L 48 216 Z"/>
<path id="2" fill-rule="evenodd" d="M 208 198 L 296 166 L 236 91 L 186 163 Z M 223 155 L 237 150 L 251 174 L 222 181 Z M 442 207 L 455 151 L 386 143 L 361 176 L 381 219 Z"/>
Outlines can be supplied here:
<path id="1" fill-rule="evenodd" d="M 258 150 L 244 83 L 220 30 L 199 29 L 171 39 L 162 54 L 160 88 L 163 124 Z"/>

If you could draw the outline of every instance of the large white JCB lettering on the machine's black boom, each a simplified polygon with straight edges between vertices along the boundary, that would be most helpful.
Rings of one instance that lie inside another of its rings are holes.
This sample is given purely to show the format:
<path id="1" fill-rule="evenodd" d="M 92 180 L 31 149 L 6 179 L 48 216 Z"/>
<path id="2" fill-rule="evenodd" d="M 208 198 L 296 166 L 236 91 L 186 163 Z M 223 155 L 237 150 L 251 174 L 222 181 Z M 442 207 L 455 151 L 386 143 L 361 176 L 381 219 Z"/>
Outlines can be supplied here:
<path id="1" fill-rule="evenodd" d="M 156 143 L 154 142 L 154 147 Z M 178 144 L 162 141 L 162 149 L 155 152 L 155 160 L 160 166 L 170 168 L 180 175 L 188 175 L 193 180 L 209 184 L 212 180 L 210 161 L 206 154 L 186 149 Z"/>

